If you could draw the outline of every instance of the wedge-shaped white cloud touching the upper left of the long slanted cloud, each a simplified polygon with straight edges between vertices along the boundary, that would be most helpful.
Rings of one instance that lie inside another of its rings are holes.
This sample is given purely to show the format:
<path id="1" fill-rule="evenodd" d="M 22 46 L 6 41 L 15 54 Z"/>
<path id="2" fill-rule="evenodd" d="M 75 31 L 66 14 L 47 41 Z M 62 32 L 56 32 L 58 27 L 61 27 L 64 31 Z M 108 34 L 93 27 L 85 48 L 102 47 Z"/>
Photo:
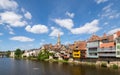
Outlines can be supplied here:
<path id="1" fill-rule="evenodd" d="M 54 22 L 61 27 L 65 27 L 67 29 L 71 29 L 74 25 L 72 19 L 54 19 Z"/>

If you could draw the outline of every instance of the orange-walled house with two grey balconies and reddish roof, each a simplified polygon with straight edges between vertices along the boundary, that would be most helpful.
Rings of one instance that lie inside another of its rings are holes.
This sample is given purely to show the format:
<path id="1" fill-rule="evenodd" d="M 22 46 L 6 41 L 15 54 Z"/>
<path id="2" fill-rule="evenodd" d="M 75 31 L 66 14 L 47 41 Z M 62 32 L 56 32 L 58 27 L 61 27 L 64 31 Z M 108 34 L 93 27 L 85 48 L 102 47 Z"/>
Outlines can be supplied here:
<path id="1" fill-rule="evenodd" d="M 98 56 L 101 58 L 114 58 L 116 57 L 116 48 L 113 35 L 104 34 L 100 40 L 100 47 Z"/>

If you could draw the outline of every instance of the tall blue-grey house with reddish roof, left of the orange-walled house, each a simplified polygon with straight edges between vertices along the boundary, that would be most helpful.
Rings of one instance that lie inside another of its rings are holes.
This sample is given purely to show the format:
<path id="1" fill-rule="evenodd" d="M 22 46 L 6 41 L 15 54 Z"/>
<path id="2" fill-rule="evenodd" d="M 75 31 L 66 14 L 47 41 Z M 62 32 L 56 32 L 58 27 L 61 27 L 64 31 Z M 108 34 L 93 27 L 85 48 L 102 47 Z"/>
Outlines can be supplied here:
<path id="1" fill-rule="evenodd" d="M 87 41 L 87 58 L 98 58 L 100 37 L 92 35 Z"/>

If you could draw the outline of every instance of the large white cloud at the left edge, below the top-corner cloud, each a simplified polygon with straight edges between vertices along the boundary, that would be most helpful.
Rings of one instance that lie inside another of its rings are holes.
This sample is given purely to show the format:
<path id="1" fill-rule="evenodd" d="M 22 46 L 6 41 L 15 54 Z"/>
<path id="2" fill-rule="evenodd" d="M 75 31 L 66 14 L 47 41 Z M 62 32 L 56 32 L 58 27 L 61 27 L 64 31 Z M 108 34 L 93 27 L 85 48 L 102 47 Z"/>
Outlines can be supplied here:
<path id="1" fill-rule="evenodd" d="M 6 11 L 4 13 L 0 13 L 0 17 L 1 23 L 7 23 L 12 27 L 22 27 L 27 24 L 26 21 L 22 21 L 22 16 L 15 12 Z"/>

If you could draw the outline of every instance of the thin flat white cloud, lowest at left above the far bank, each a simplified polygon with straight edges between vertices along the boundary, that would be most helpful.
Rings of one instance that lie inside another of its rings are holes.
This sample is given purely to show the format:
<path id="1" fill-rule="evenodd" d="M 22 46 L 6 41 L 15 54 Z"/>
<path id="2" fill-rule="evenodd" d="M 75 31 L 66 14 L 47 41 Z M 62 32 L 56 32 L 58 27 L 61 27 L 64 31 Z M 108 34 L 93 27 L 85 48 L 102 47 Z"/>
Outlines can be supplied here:
<path id="1" fill-rule="evenodd" d="M 32 42 L 34 39 L 25 37 L 25 36 L 15 36 L 10 38 L 10 40 L 19 41 L 19 42 Z"/>

